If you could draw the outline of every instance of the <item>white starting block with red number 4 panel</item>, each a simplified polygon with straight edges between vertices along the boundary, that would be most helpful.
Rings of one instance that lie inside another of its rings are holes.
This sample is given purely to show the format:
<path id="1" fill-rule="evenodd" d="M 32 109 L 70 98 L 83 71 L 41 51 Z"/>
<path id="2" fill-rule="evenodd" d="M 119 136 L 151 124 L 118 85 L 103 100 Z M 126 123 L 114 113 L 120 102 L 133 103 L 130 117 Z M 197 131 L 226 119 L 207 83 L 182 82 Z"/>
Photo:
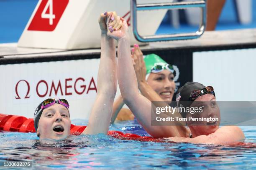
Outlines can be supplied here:
<path id="1" fill-rule="evenodd" d="M 154 3 L 170 0 L 152 0 Z M 146 3 L 147 0 L 138 0 Z M 116 11 L 128 22 L 131 44 L 133 35 L 130 0 L 39 0 L 24 29 L 18 47 L 87 49 L 100 47 L 98 18 L 105 11 Z M 154 35 L 167 9 L 138 11 L 140 35 Z"/>

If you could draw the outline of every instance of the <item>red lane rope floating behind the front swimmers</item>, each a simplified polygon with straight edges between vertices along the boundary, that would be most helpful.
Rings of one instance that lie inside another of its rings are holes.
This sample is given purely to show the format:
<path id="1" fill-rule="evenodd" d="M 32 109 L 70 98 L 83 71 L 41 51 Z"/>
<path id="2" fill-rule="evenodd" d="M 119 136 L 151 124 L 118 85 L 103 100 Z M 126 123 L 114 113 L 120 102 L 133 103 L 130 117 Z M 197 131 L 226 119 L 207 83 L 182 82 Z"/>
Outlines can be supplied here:
<path id="1" fill-rule="evenodd" d="M 76 126 L 71 124 L 70 134 L 81 135 L 87 126 Z M 35 133 L 34 120 L 33 118 L 27 119 L 23 116 L 17 115 L 5 115 L 0 113 L 0 130 L 10 132 L 23 132 L 23 133 Z M 110 130 L 108 135 L 118 139 L 125 140 L 139 140 L 139 141 L 154 141 L 161 142 L 161 139 L 154 139 L 149 136 L 140 136 L 133 133 L 122 133 L 120 131 Z"/>

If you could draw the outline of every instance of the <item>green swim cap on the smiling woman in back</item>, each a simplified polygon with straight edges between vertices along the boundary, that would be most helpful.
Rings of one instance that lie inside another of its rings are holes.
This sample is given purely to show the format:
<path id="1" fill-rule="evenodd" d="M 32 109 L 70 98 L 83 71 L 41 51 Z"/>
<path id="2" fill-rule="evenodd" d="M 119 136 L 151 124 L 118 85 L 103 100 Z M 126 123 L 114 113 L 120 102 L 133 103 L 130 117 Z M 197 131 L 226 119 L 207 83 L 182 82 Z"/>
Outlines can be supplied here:
<path id="1" fill-rule="evenodd" d="M 156 54 L 148 54 L 144 57 L 147 74 L 151 72 L 151 69 L 155 66 L 155 63 L 167 64 L 161 57 Z"/>

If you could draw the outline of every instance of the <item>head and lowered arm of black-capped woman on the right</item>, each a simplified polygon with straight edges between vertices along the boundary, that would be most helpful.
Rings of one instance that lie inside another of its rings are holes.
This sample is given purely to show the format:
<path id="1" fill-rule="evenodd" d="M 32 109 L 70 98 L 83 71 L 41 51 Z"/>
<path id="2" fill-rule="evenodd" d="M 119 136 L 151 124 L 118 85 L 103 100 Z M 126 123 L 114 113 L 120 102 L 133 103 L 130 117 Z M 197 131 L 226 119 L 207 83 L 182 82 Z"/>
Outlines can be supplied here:
<path id="1" fill-rule="evenodd" d="M 204 106 L 204 117 L 217 117 L 219 121 L 200 121 L 200 125 L 193 121 L 187 121 L 189 138 L 187 136 L 171 137 L 168 138 L 169 140 L 174 142 L 225 145 L 237 143 L 245 138 L 243 131 L 238 126 L 223 126 L 219 128 L 220 109 L 215 100 L 215 92 L 212 86 L 205 87 L 198 82 L 187 82 L 179 88 L 177 96 L 180 96 L 177 98 L 178 106 Z M 182 116 L 188 118 L 191 114 L 182 113 Z M 198 115 L 198 117 L 201 116 L 202 114 Z"/>

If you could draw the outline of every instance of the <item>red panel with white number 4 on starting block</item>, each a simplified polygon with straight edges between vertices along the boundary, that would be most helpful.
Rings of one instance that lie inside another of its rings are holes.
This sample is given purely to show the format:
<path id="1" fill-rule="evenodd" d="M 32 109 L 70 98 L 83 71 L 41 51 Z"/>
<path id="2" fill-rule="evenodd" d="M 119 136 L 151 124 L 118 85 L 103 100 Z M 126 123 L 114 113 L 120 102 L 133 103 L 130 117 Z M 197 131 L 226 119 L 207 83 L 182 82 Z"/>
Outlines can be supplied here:
<path id="1" fill-rule="evenodd" d="M 53 31 L 68 3 L 69 0 L 42 0 L 28 30 Z"/>

